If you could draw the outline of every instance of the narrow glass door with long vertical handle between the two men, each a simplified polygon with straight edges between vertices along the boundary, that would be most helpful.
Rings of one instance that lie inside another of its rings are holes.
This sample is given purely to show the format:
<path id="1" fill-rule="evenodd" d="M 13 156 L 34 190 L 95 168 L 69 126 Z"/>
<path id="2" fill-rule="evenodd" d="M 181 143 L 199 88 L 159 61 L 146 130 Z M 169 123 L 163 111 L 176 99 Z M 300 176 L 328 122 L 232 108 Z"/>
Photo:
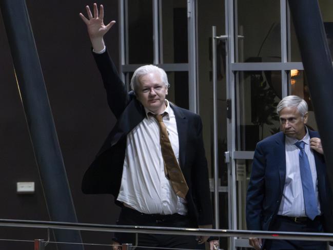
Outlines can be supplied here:
<path id="1" fill-rule="evenodd" d="M 196 1 L 198 112 L 209 166 L 211 199 L 216 228 L 232 228 L 230 166 L 228 151 L 229 52 L 228 3 L 225 0 Z M 231 111 L 229 107 L 229 111 Z M 231 117 L 230 117 L 231 118 Z M 222 249 L 229 249 L 221 238 Z"/>

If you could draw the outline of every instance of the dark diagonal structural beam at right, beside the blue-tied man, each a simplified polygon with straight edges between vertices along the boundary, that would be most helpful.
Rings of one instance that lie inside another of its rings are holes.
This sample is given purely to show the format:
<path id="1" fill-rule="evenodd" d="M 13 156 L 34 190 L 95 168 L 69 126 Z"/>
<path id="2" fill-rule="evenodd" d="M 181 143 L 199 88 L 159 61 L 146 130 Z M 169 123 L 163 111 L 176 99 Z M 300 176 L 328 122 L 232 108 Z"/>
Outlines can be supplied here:
<path id="1" fill-rule="evenodd" d="M 333 189 L 333 67 L 317 0 L 289 0 Z"/>

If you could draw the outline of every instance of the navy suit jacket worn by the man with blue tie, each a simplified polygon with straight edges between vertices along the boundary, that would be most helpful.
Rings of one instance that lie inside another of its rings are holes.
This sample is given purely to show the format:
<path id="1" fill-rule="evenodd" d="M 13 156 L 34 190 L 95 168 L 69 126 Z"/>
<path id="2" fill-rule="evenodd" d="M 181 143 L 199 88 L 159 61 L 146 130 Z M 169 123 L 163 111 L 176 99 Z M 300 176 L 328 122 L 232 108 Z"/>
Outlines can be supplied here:
<path id="1" fill-rule="evenodd" d="M 319 133 L 309 131 L 310 138 Z M 319 201 L 324 216 L 324 230 L 333 232 L 332 192 L 323 155 L 314 151 Z M 285 137 L 283 132 L 257 144 L 246 197 L 246 223 L 249 230 L 269 230 L 278 213 L 286 178 Z"/>

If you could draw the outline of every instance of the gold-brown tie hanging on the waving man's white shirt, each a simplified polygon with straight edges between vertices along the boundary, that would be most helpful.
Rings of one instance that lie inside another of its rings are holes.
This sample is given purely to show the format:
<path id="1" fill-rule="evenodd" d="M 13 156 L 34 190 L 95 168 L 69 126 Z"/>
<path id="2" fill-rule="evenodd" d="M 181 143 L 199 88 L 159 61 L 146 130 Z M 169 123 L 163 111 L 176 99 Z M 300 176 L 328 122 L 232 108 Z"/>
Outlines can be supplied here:
<path id="1" fill-rule="evenodd" d="M 184 178 L 182 170 L 177 162 L 177 159 L 174 156 L 168 132 L 163 122 L 163 115 L 153 114 L 153 117 L 158 121 L 160 127 L 160 143 L 162 157 L 164 160 L 165 175 L 169 177 L 168 179 L 171 181 L 174 193 L 177 196 L 185 199 L 188 192 L 188 186 L 186 184 L 186 180 Z"/>

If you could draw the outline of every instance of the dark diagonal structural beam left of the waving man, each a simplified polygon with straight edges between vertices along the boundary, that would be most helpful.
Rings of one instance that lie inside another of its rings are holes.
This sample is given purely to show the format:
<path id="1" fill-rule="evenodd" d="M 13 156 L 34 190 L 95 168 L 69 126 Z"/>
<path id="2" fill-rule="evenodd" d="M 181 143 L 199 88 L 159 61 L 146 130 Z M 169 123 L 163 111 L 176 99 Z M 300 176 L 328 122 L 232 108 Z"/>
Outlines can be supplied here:
<path id="1" fill-rule="evenodd" d="M 77 222 L 43 73 L 25 0 L 0 0 L 19 92 L 43 184 L 51 221 Z M 56 241 L 82 243 L 74 230 L 54 229 Z M 83 250 L 81 244 L 58 244 L 59 250 Z"/>

